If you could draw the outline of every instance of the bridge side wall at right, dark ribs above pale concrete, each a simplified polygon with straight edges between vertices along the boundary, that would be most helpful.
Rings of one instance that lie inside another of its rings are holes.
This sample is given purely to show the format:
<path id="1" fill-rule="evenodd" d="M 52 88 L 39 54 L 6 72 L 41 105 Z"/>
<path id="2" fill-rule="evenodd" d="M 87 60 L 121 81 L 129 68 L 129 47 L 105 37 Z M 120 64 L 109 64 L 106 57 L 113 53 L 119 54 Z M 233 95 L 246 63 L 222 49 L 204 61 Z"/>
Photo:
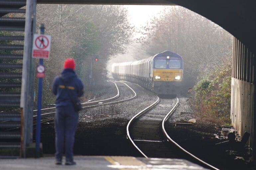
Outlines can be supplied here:
<path id="1" fill-rule="evenodd" d="M 256 95 L 255 54 L 237 38 L 233 38 L 231 110 L 233 127 L 242 136 L 251 134 L 248 144 L 256 159 Z"/>

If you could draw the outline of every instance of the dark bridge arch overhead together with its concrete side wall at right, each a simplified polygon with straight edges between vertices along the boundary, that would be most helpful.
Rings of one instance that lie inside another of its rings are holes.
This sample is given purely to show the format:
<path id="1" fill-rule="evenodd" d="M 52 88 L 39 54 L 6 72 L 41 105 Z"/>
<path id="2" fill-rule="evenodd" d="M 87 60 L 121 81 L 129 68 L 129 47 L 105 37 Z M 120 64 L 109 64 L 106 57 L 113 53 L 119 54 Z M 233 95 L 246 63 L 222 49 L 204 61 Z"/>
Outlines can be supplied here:
<path id="1" fill-rule="evenodd" d="M 180 5 L 218 24 L 234 35 L 231 112 L 234 128 L 251 134 L 256 150 L 256 1 L 254 0 L 38 0 L 46 4 Z M 256 151 L 253 152 L 256 158 Z"/>

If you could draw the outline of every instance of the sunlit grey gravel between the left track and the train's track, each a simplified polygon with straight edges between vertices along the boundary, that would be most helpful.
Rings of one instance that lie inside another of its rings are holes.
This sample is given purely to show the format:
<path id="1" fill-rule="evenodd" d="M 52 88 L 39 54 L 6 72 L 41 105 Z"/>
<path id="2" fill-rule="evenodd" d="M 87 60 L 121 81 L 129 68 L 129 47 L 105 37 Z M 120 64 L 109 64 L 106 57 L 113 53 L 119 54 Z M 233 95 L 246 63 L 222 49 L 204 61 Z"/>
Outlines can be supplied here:
<path id="1" fill-rule="evenodd" d="M 113 101 L 120 101 L 134 96 L 134 93 L 124 84 L 116 83 L 120 96 Z M 103 105 L 79 112 L 79 122 L 91 121 L 111 121 L 109 119 L 125 119 L 129 121 L 134 115 L 155 102 L 154 93 L 147 91 L 143 87 L 126 82 L 136 93 L 133 100 L 112 105 Z M 111 102 L 113 102 L 111 101 Z M 140 103 L 138 105 L 138 103 Z"/>

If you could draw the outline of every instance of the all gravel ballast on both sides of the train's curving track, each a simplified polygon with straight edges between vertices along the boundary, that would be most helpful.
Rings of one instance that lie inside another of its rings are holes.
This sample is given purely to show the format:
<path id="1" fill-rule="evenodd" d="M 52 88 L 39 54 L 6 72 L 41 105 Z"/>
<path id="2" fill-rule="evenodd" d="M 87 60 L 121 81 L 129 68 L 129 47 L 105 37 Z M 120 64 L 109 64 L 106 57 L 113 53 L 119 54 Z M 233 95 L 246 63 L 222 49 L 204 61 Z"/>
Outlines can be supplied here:
<path id="1" fill-rule="evenodd" d="M 116 95 L 114 84 L 107 83 L 105 93 L 97 98 L 106 99 Z M 117 83 L 120 89 L 120 97 L 116 100 L 130 98 L 133 93 L 125 85 Z M 129 83 L 135 90 L 137 97 L 131 101 L 95 107 L 87 109 L 79 114 L 79 123 L 75 135 L 74 154 L 79 155 L 120 155 L 120 156 L 141 156 L 126 138 L 126 126 L 129 120 L 156 101 L 156 95 L 143 87 Z M 188 98 L 179 96 L 180 105 L 175 110 L 166 130 L 171 138 L 178 142 L 185 149 L 191 151 L 198 157 L 210 161 L 212 165 L 223 169 L 250 169 L 245 164 L 234 162 L 223 150 L 216 148 L 215 143 L 223 142 L 226 139 L 215 138 L 223 128 L 210 122 L 196 119 L 191 126 L 175 126 L 176 122 L 187 122 L 196 116 L 187 103 Z M 174 105 L 174 100 L 161 98 L 160 104 Z M 42 125 L 42 143 L 44 153 L 54 153 L 54 129 L 47 124 Z M 198 149 L 200 148 L 200 149 Z M 210 154 L 209 154 L 210 153 Z M 217 158 L 217 159 L 216 159 Z M 231 167 L 231 168 L 230 168 Z"/>

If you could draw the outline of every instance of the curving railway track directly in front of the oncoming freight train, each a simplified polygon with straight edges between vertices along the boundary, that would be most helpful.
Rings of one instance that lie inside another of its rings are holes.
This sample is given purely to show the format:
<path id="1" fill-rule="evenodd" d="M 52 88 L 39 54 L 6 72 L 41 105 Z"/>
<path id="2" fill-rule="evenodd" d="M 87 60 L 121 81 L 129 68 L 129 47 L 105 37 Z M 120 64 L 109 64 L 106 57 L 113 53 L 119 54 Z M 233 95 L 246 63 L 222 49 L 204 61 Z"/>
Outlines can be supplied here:
<path id="1" fill-rule="evenodd" d="M 204 167 L 218 170 L 173 141 L 165 130 L 165 123 L 170 119 L 179 104 L 179 99 L 170 103 L 157 100 L 135 115 L 127 125 L 127 137 L 137 150 L 146 158 L 185 158 Z"/>

